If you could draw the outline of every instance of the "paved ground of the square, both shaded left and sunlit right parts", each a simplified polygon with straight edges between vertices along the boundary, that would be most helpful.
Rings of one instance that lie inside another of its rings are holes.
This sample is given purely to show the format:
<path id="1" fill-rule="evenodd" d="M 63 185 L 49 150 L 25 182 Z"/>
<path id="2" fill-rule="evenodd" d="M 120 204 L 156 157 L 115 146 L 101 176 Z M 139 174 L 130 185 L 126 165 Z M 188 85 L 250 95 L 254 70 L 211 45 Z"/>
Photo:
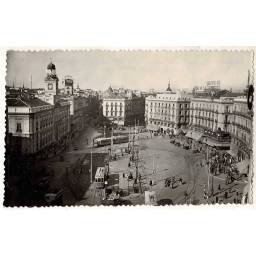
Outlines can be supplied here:
<path id="1" fill-rule="evenodd" d="M 93 128 L 84 131 L 73 140 L 68 149 L 60 155 L 47 161 L 47 168 L 52 170 L 50 187 L 52 190 L 61 189 L 64 205 L 100 205 L 104 197 L 103 191 L 97 191 L 94 183 L 90 183 L 90 157 L 93 138 L 100 133 Z M 123 190 L 123 199 L 131 204 L 144 204 L 145 191 L 154 191 L 158 202 L 166 200 L 173 204 L 215 203 L 219 201 L 233 202 L 237 192 L 241 192 L 244 183 L 225 184 L 225 177 L 209 176 L 204 153 L 193 153 L 170 143 L 169 137 L 151 136 L 148 132 L 136 137 L 135 145 L 139 148 L 138 173 L 141 177 L 140 191 L 134 191 L 134 179 L 128 181 L 131 173 L 136 176 L 135 164 L 130 162 L 130 154 L 121 154 L 121 148 L 127 148 L 128 143 L 114 145 L 113 154 L 116 160 L 109 163 L 110 180 L 108 187 Z M 93 175 L 97 167 L 104 166 L 104 159 L 110 146 L 93 148 Z M 129 166 L 130 162 L 130 166 Z M 84 168 L 81 166 L 84 165 Z M 213 177 L 213 180 L 212 180 Z M 166 179 L 177 182 L 166 186 Z M 214 196 L 206 198 L 208 184 L 213 188 Z M 219 190 L 219 186 L 221 190 Z M 231 189 L 230 189 L 231 188 Z M 229 197 L 224 199 L 224 192 L 229 191 Z M 127 191 L 129 191 L 127 195 Z"/>

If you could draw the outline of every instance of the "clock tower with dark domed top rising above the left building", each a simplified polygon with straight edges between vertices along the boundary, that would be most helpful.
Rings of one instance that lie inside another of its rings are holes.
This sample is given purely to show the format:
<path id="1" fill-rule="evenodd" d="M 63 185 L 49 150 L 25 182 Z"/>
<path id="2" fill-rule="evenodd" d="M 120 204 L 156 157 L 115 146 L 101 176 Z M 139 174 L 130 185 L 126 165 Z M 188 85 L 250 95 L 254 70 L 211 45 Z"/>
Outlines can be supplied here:
<path id="1" fill-rule="evenodd" d="M 58 95 L 59 88 L 58 82 L 59 78 L 56 74 L 56 67 L 51 62 L 47 66 L 45 81 L 45 94 L 47 95 Z"/>

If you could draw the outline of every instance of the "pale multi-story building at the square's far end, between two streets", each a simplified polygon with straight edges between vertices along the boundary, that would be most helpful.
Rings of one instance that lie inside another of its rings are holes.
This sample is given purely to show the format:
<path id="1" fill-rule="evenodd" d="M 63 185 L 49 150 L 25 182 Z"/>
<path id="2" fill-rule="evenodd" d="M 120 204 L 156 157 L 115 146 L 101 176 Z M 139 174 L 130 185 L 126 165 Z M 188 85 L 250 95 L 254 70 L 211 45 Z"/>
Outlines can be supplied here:
<path id="1" fill-rule="evenodd" d="M 131 91 L 114 92 L 111 86 L 103 96 L 103 115 L 117 125 L 143 125 L 145 99 Z"/>

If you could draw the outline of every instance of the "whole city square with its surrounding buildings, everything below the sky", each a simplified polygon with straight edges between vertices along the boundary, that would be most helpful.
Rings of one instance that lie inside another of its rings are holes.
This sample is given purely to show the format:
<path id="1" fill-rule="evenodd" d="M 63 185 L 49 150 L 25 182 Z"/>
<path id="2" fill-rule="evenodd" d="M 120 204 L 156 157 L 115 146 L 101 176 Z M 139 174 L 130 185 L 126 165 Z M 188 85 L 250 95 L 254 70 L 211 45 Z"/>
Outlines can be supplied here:
<path id="1" fill-rule="evenodd" d="M 253 112 L 246 92 L 221 90 L 219 81 L 210 81 L 191 94 L 173 91 L 169 82 L 163 92 L 110 86 L 88 96 L 79 86 L 74 89 L 70 76 L 59 88 L 52 62 L 44 82 L 44 90 L 7 90 L 7 151 L 12 152 L 7 162 L 31 157 L 38 169 L 50 173 L 36 181 L 36 186 L 47 183 L 39 192 L 40 204 L 54 204 L 58 195 L 61 205 L 251 200 Z M 99 117 L 108 127 L 102 121 L 88 125 Z M 129 143 L 93 147 L 106 128 L 128 136 Z M 95 184 L 99 167 L 107 168 L 103 188 Z"/>

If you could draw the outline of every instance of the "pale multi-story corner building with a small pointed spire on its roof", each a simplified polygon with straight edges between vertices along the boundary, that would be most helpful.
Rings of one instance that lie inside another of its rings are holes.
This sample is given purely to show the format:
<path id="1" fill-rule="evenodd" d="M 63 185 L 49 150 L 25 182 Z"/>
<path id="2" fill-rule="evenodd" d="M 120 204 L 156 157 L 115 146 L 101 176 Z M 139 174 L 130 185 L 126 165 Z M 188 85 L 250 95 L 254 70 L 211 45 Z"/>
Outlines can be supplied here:
<path id="1" fill-rule="evenodd" d="M 152 131 L 173 131 L 189 124 L 190 97 L 182 91 L 172 92 L 170 83 L 164 93 L 146 98 L 145 122 Z"/>

